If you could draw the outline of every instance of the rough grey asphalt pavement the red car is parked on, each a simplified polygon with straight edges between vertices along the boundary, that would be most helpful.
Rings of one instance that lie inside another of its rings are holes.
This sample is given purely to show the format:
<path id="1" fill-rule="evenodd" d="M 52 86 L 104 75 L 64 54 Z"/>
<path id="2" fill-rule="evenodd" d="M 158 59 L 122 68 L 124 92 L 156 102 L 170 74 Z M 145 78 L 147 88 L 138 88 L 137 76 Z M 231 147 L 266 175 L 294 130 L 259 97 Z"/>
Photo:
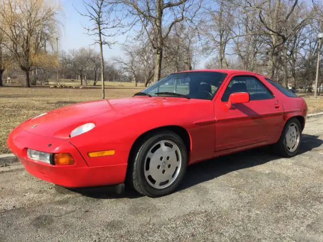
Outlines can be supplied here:
<path id="1" fill-rule="evenodd" d="M 2 172 L 0 241 L 323 241 L 323 118 L 304 134 L 294 158 L 256 149 L 205 161 L 157 199 Z"/>

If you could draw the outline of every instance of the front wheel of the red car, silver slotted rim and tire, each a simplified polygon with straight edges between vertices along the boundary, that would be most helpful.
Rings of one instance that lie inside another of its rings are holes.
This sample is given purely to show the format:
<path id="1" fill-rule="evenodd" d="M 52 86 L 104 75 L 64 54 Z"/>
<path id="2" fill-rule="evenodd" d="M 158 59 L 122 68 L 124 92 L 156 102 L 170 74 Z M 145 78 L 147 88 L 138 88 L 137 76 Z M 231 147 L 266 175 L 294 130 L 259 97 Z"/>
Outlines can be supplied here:
<path id="1" fill-rule="evenodd" d="M 132 164 L 134 189 L 148 197 L 172 193 L 180 184 L 187 167 L 187 149 L 173 132 L 156 133 L 138 146 Z"/>

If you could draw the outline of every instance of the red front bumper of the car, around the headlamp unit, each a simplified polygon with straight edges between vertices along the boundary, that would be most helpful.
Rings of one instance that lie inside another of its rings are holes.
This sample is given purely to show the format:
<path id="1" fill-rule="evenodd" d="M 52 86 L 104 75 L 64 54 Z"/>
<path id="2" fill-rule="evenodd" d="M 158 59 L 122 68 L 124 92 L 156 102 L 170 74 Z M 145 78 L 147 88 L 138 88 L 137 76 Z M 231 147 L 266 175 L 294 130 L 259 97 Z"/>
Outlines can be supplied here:
<path id="1" fill-rule="evenodd" d="M 127 164 L 88 166 L 80 152 L 68 141 L 31 134 L 17 127 L 8 137 L 8 147 L 26 170 L 50 183 L 63 187 L 95 187 L 124 183 Z M 73 165 L 51 165 L 31 160 L 27 148 L 48 153 L 69 153 Z"/>

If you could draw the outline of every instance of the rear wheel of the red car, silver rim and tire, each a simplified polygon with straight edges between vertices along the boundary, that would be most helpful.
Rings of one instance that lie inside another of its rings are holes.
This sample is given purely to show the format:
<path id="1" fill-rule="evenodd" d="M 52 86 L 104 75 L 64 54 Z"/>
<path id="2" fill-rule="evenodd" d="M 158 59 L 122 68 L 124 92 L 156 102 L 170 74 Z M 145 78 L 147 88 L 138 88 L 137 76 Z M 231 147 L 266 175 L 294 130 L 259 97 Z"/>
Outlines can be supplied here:
<path id="1" fill-rule="evenodd" d="M 281 138 L 275 144 L 278 154 L 292 157 L 297 154 L 302 139 L 302 129 L 299 120 L 295 117 L 289 119 L 283 129 Z"/>

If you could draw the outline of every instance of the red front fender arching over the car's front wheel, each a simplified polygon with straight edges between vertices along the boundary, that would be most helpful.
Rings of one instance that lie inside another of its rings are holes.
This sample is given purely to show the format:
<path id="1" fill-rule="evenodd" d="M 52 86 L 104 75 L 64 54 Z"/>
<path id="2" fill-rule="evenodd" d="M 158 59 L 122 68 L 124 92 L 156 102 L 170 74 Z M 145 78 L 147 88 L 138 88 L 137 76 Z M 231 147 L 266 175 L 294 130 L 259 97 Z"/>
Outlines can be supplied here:
<path id="1" fill-rule="evenodd" d="M 183 127 L 191 137 L 190 161 L 210 158 L 214 152 L 215 124 L 213 102 L 183 104 L 143 110 L 112 118 L 107 112 L 97 116 L 97 126 L 70 139 L 89 166 L 125 164 L 134 142 L 142 134 L 166 126 Z M 112 120 L 109 122 L 109 120 Z M 115 155 L 90 158 L 89 152 L 115 150 Z"/>

